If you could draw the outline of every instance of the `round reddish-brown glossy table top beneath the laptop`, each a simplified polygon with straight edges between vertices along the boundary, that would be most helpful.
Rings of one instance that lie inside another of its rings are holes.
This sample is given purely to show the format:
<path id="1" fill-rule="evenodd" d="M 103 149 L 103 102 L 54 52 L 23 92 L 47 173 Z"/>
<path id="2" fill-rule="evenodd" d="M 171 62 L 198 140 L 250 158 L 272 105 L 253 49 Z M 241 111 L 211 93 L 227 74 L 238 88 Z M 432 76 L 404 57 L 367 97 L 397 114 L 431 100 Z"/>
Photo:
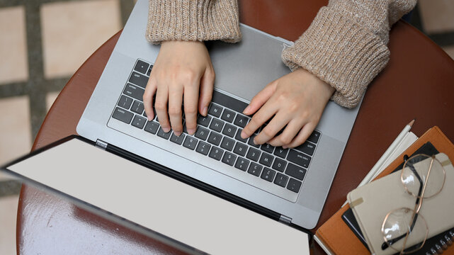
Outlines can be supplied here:
<path id="1" fill-rule="evenodd" d="M 320 6 L 326 4 L 266 0 L 239 3 L 243 23 L 289 40 L 296 40 Z M 69 80 L 47 113 L 33 149 L 76 134 L 79 118 L 119 35 L 94 52 Z M 339 210 L 348 191 L 358 186 L 410 120 L 416 118 L 412 131 L 418 136 L 438 125 L 454 140 L 453 60 L 402 21 L 392 28 L 389 47 L 390 62 L 365 94 L 315 229 Z M 181 254 L 30 186 L 23 186 L 19 199 L 17 248 L 18 254 Z M 311 251 L 322 254 L 318 246 Z"/>

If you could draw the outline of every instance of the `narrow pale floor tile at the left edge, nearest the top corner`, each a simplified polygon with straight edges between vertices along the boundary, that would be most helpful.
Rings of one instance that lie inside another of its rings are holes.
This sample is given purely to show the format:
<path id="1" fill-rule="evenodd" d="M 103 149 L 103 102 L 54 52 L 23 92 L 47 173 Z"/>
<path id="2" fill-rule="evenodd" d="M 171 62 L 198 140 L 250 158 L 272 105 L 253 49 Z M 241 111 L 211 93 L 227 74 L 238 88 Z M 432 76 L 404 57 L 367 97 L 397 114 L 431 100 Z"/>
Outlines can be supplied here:
<path id="1" fill-rule="evenodd" d="M 25 8 L 0 8 L 0 84 L 28 79 Z"/>

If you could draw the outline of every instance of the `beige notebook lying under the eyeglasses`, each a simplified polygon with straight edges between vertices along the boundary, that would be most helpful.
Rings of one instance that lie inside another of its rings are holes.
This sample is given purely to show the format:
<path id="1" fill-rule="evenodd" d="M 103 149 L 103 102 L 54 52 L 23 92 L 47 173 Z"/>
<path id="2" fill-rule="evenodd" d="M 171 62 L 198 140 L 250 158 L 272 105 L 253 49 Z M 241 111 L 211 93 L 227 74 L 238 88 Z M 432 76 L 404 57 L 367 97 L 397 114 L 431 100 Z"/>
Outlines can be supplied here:
<path id="1" fill-rule="evenodd" d="M 454 227 L 454 217 L 452 217 L 454 211 L 454 200 L 452 199 L 454 194 L 454 167 L 444 153 L 436 154 L 436 159 L 443 164 L 446 179 L 440 193 L 431 198 L 424 198 L 421 210 L 419 210 L 419 215 L 424 217 L 429 229 L 428 239 Z M 423 168 L 429 169 L 430 162 L 431 158 L 415 164 L 416 171 L 423 171 Z M 407 169 L 407 171 L 410 170 Z M 402 185 L 401 172 L 402 170 L 396 171 L 377 181 L 355 188 L 347 195 L 348 204 L 353 209 L 361 232 L 368 242 L 369 249 L 377 255 L 390 255 L 397 252 L 390 247 L 381 249 L 384 241 L 381 226 L 387 213 L 397 208 L 414 208 L 415 206 L 416 198 L 407 193 Z M 421 221 L 421 217 L 418 220 Z M 419 226 L 422 225 L 419 224 Z M 414 230 L 423 232 L 426 229 L 421 227 L 421 229 Z M 409 247 L 422 242 L 423 239 L 418 239 L 418 236 L 419 234 L 410 234 L 406 239 L 406 246 Z M 404 239 L 399 240 L 399 242 L 396 245 L 402 245 Z"/>

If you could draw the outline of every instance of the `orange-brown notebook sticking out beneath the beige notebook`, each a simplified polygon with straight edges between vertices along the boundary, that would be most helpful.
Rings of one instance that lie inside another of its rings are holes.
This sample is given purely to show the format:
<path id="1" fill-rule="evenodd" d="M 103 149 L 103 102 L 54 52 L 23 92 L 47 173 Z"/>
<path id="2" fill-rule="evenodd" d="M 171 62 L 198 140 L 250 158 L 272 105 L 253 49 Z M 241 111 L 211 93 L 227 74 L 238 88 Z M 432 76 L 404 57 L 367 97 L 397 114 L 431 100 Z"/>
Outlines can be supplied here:
<path id="1" fill-rule="evenodd" d="M 426 142 L 431 142 L 439 152 L 448 155 L 451 162 L 454 159 L 454 145 L 448 138 L 441 132 L 438 127 L 433 127 L 427 130 L 424 135 L 421 135 L 413 145 L 405 150 L 397 159 L 387 166 L 376 179 L 380 179 L 387 174 L 390 174 L 394 169 L 402 164 L 404 154 L 413 154 L 419 147 Z M 345 205 L 333 216 L 327 220 L 315 233 L 316 237 L 329 249 L 333 254 L 370 254 L 368 249 L 365 248 L 359 239 L 351 232 L 351 229 L 344 223 L 341 216 L 348 210 L 349 205 Z M 454 254 L 454 245 L 449 246 L 445 251 L 446 254 Z"/>

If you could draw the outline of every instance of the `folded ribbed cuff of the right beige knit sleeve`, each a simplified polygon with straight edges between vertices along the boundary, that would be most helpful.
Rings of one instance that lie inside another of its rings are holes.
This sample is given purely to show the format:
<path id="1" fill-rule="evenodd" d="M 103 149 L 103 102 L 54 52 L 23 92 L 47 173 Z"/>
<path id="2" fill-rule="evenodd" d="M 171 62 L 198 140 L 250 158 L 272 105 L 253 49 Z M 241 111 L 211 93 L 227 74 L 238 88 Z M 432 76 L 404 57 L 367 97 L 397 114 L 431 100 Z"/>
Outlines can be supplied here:
<path id="1" fill-rule="evenodd" d="M 387 64 L 390 52 L 378 35 L 340 13 L 322 7 L 282 58 L 290 69 L 302 67 L 333 86 L 336 92 L 331 100 L 353 108 Z"/>

